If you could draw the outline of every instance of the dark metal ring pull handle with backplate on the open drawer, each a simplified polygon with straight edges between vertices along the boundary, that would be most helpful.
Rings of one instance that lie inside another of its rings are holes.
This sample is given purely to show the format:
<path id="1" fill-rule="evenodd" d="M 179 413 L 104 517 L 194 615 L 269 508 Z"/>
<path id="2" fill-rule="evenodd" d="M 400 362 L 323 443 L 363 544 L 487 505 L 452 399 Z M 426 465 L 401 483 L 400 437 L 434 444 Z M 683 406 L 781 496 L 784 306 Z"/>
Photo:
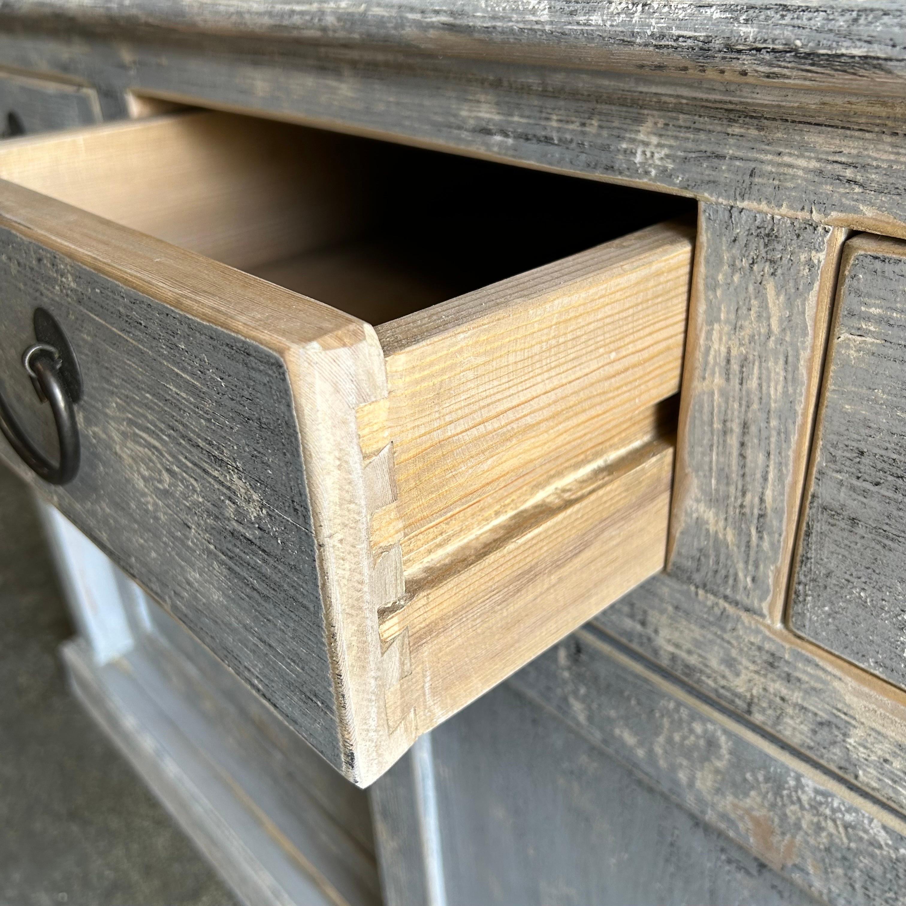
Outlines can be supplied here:
<path id="1" fill-rule="evenodd" d="M 34 446 L 15 419 L 2 394 L 0 394 L 0 430 L 25 465 L 36 475 L 52 485 L 65 485 L 72 481 L 79 471 L 82 457 L 74 406 L 82 398 L 82 378 L 72 347 L 50 313 L 39 308 L 34 313 L 34 328 L 38 342 L 25 350 L 22 363 L 32 379 L 38 399 L 51 404 L 60 440 L 59 463 L 54 464 Z M 57 342 L 48 342 L 50 340 Z"/>

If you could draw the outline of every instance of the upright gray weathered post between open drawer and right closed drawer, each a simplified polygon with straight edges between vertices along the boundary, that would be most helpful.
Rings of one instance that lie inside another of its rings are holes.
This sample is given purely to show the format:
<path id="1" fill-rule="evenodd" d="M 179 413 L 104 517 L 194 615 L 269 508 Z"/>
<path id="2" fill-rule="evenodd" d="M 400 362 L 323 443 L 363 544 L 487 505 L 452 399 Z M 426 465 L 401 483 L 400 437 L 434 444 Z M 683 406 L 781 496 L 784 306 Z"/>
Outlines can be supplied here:
<path id="1" fill-rule="evenodd" d="M 842 231 L 701 207 L 668 571 L 778 622 Z"/>

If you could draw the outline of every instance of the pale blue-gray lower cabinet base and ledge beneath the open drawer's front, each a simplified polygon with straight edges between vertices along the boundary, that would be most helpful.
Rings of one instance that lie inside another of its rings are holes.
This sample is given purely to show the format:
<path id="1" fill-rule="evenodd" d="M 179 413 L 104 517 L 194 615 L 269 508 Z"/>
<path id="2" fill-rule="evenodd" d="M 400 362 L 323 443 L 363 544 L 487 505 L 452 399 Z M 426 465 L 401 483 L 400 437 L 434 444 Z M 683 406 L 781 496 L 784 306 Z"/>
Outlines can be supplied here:
<path id="1" fill-rule="evenodd" d="M 91 656 L 84 644 L 67 651 L 72 678 L 89 708 L 105 716 L 101 722 L 116 743 L 140 772 L 154 778 L 155 792 L 188 825 L 188 833 L 204 849 L 204 841 L 223 834 L 208 806 L 238 815 L 232 829 L 241 845 L 226 838 L 209 854 L 227 877 L 247 872 L 263 884 L 265 892 L 246 898 L 254 906 L 270 902 L 266 891 L 274 886 L 287 896 L 295 889 L 294 906 L 322 901 L 323 892 L 312 890 L 318 885 L 306 880 L 304 868 L 293 869 L 293 862 L 312 866 L 323 879 L 321 887 L 339 892 L 344 903 L 376 906 L 380 892 L 366 794 L 286 727 L 59 512 L 47 505 L 43 510 L 70 607 L 91 630 L 84 640 L 92 646 Z M 111 642 L 122 646 L 124 634 L 124 650 L 111 651 Z M 103 669 L 107 664 L 111 670 Z M 163 751 L 173 759 L 169 772 L 145 765 L 148 759 L 160 760 Z M 211 772 L 229 776 L 223 789 L 205 781 Z M 236 790 L 241 795 L 232 802 Z M 212 791 L 217 806 L 210 801 Z M 200 802 L 193 807 L 196 798 Z M 260 815 L 266 815 L 264 821 Z M 223 865 L 231 852 L 239 864 Z M 236 886 L 243 891 L 242 882 Z"/>

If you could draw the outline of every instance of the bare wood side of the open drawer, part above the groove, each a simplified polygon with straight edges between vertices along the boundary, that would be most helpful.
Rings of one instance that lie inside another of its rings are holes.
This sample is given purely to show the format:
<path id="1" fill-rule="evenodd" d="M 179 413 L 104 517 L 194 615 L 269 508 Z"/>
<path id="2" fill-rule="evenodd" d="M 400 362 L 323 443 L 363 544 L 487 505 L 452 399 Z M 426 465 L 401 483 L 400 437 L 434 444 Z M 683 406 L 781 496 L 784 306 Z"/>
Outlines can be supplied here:
<path id="1" fill-rule="evenodd" d="M 378 327 L 388 408 L 362 413 L 361 443 L 393 444 L 407 582 L 448 569 L 552 481 L 663 430 L 693 238 L 651 226 Z"/>

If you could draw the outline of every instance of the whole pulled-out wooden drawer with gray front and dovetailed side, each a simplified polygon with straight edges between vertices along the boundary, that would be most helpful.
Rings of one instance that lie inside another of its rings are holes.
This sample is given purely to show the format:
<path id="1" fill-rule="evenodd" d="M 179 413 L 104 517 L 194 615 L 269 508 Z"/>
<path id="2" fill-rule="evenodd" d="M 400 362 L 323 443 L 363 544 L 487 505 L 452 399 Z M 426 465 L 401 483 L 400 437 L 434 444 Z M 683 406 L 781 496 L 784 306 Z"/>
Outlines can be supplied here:
<path id="1" fill-rule="evenodd" d="M 679 199 L 207 112 L 0 178 L 35 445 L 35 309 L 83 379 L 70 483 L 0 455 L 356 783 L 662 567 Z"/>

